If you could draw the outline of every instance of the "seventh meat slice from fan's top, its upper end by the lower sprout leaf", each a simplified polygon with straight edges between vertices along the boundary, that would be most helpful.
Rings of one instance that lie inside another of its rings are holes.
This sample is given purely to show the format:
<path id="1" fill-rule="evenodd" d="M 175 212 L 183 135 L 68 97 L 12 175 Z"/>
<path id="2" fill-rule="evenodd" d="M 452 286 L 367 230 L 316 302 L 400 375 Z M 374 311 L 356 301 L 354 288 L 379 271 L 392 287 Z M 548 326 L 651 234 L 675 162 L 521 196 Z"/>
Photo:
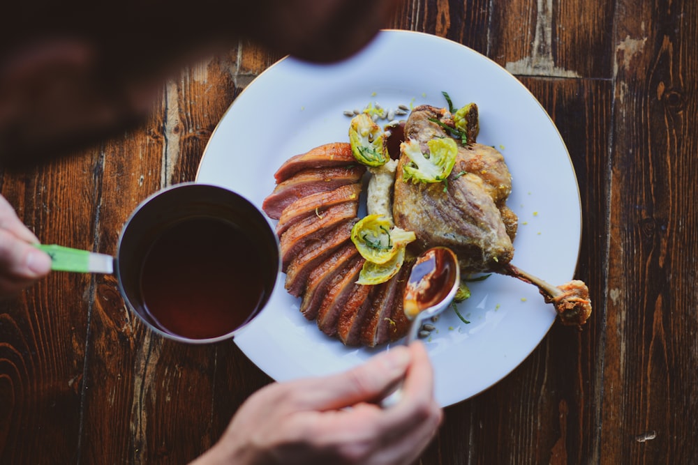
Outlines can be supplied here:
<path id="1" fill-rule="evenodd" d="M 336 335 L 339 314 L 357 286 L 361 285 L 356 284 L 356 280 L 359 278 L 359 271 L 361 271 L 365 261 L 366 259 L 360 255 L 354 257 L 329 282 L 316 317 L 318 328 L 322 330 L 322 333 L 328 336 Z"/>

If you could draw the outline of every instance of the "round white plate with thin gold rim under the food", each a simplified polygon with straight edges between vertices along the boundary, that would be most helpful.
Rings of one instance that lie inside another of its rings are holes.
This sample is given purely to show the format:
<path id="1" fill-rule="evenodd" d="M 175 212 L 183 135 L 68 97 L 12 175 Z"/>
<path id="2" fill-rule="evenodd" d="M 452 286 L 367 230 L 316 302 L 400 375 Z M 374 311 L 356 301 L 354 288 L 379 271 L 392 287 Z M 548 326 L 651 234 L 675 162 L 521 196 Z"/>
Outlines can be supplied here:
<path id="1" fill-rule="evenodd" d="M 218 123 L 197 181 L 223 185 L 257 206 L 274 188 L 274 171 L 292 155 L 327 142 L 348 142 L 347 109 L 370 102 L 446 106 L 476 102 L 477 142 L 496 146 L 513 176 L 507 204 L 519 215 L 513 263 L 551 284 L 572 278 L 579 255 L 579 187 L 565 144 L 547 113 L 512 75 L 487 57 L 450 40 L 383 31 L 364 51 L 332 66 L 282 59 L 233 102 Z M 272 222 L 273 224 L 273 222 Z M 235 343 L 277 381 L 339 372 L 377 349 L 347 348 L 326 337 L 283 289 Z M 460 305 L 463 323 L 444 312 L 426 347 L 442 406 L 468 399 L 512 371 L 555 319 L 537 290 L 492 275 L 471 285 Z"/>

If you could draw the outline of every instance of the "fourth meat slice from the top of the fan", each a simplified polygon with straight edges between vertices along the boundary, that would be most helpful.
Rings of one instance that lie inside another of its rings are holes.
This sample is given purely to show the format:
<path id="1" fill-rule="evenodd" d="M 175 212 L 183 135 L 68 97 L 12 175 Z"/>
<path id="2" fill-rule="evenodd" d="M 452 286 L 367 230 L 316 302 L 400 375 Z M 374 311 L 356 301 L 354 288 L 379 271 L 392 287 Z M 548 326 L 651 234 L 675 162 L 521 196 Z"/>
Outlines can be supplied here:
<path id="1" fill-rule="evenodd" d="M 301 220 L 281 236 L 281 266 L 285 272 L 291 260 L 304 247 L 310 245 L 313 241 L 322 240 L 327 231 L 338 226 L 346 220 L 356 218 L 358 204 L 345 203 L 327 208 L 322 218 L 311 216 L 305 220 Z"/>

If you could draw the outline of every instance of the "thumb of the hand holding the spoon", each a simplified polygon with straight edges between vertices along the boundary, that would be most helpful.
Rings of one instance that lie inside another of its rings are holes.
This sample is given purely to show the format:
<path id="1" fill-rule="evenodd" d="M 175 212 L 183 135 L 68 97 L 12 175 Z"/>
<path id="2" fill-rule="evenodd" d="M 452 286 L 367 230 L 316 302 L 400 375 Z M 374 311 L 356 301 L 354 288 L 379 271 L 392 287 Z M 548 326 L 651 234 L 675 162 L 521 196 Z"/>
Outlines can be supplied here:
<path id="1" fill-rule="evenodd" d="M 396 346 L 346 372 L 306 380 L 302 408 L 336 410 L 359 402 L 376 402 L 405 376 L 410 360 L 409 349 Z"/>

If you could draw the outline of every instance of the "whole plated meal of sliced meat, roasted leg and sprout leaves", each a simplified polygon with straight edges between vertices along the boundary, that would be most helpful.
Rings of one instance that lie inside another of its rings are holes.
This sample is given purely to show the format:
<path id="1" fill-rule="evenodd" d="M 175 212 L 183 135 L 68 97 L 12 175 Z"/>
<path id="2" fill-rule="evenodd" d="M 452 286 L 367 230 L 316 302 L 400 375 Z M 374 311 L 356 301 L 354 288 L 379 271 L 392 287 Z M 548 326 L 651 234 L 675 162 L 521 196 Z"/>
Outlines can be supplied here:
<path id="1" fill-rule="evenodd" d="M 584 282 L 554 287 L 510 263 L 518 222 L 506 205 L 511 175 L 501 153 L 475 142 L 477 106 L 422 105 L 395 129 L 359 114 L 350 142 L 295 155 L 274 174 L 262 210 L 278 220 L 285 289 L 301 298 L 302 314 L 348 346 L 399 340 L 410 323 L 403 295 L 415 257 L 442 245 L 465 275 L 534 284 L 560 321 L 584 324 L 591 315 Z M 399 153 L 389 153 L 391 132 Z M 367 173 L 367 215 L 359 218 Z"/>

